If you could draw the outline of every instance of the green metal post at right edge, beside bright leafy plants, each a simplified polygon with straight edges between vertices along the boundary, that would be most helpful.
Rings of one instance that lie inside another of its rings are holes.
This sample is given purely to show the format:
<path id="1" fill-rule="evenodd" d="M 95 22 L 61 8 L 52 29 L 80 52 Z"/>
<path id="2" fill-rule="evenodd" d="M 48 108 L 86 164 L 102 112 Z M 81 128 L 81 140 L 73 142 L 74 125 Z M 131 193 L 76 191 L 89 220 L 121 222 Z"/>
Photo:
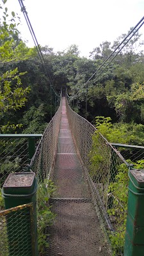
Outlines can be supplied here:
<path id="1" fill-rule="evenodd" d="M 129 170 L 124 256 L 144 255 L 144 170 Z"/>

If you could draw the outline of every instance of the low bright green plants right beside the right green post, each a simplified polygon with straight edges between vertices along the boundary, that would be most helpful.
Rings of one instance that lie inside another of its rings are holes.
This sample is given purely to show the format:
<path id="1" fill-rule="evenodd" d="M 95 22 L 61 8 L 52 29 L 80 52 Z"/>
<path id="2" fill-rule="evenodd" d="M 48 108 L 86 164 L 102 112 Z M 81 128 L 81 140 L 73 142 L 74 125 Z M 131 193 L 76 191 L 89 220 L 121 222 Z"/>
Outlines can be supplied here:
<path id="1" fill-rule="evenodd" d="M 135 163 L 128 161 L 133 168 L 143 169 L 144 160 L 138 160 Z M 109 216 L 113 216 L 116 223 L 115 234 L 109 234 L 111 246 L 113 248 L 113 256 L 124 253 L 125 228 L 127 220 L 127 200 L 128 200 L 129 176 L 128 169 L 125 164 L 118 166 L 118 172 L 115 176 L 115 182 L 109 184 L 108 193 L 113 194 L 113 204 L 108 210 Z"/>

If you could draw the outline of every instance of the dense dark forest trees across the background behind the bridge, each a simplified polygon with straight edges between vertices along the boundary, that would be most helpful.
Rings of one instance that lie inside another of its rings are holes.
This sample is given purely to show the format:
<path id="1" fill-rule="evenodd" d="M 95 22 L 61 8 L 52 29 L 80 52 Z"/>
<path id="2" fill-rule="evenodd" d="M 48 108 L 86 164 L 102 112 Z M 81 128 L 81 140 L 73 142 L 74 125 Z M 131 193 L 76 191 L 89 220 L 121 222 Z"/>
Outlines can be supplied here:
<path id="1" fill-rule="evenodd" d="M 49 80 L 36 49 L 29 49 L 22 42 L 17 15 L 12 12 L 11 19 L 5 5 L 1 10 L 0 33 L 1 133 L 42 132 L 51 119 L 51 112 L 54 115 L 58 99 L 52 92 L 50 100 Z M 61 87 L 67 87 L 69 95 L 75 95 L 74 109 L 82 116 L 85 116 L 87 99 L 90 122 L 95 122 L 95 116 L 110 116 L 112 123 L 118 123 L 117 127 L 123 125 L 122 129 L 128 130 L 134 127 L 135 133 L 141 134 L 144 124 L 144 53 L 140 36 L 136 33 L 108 68 L 95 80 L 99 73 L 96 74 L 86 86 L 84 83 L 125 35 L 113 44 L 102 42 L 90 52 L 90 58 L 81 57 L 77 45 L 62 52 L 54 52 L 47 45 L 42 47 L 54 89 L 60 93 Z M 131 142 L 139 143 L 137 140 Z"/>

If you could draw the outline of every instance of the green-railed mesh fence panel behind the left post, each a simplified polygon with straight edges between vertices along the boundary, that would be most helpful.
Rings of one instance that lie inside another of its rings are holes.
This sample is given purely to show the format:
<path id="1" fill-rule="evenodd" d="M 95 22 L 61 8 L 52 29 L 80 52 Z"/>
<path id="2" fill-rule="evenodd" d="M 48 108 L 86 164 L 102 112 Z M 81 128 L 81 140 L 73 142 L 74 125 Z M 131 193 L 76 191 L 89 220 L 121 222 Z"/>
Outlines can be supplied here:
<path id="1" fill-rule="evenodd" d="M 28 170 L 40 137 L 42 134 L 0 134 L 0 186 L 3 186 L 9 173 Z M 33 152 L 31 138 L 35 140 Z"/>

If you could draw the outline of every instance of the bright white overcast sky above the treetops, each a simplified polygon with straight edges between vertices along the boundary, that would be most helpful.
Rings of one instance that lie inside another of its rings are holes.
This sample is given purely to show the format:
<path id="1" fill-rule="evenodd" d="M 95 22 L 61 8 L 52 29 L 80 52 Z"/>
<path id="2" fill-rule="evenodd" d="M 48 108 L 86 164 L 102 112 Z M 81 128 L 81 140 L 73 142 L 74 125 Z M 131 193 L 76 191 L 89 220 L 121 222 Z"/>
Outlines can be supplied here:
<path id="1" fill-rule="evenodd" d="M 38 44 L 63 51 L 71 44 L 81 56 L 108 40 L 113 42 L 134 27 L 144 15 L 143 0 L 24 0 Z M 18 0 L 8 0 L 9 10 L 21 17 L 19 30 L 32 47 L 33 40 Z M 140 29 L 144 40 L 144 25 Z"/>

